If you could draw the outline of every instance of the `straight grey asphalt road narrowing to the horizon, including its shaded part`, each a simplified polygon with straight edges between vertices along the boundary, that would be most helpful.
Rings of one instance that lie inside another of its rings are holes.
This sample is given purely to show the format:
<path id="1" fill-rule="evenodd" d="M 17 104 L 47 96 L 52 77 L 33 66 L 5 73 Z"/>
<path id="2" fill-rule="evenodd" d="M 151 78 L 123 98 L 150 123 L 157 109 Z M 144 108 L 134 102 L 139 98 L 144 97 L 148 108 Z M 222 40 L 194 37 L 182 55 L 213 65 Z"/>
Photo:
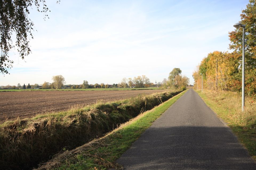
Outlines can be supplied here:
<path id="1" fill-rule="evenodd" d="M 124 169 L 256 169 L 194 90 L 178 99 L 118 160 Z"/>

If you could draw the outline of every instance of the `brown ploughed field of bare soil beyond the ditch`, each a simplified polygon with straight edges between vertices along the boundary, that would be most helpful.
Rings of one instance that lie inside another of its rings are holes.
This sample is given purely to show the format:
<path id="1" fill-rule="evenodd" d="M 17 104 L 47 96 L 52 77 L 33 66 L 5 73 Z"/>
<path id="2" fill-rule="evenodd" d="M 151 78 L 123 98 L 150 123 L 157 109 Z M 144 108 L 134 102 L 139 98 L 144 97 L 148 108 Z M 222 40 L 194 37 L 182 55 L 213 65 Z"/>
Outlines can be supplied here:
<path id="1" fill-rule="evenodd" d="M 0 122 L 83 107 L 98 100 L 114 101 L 163 91 L 166 90 L 0 92 Z"/>

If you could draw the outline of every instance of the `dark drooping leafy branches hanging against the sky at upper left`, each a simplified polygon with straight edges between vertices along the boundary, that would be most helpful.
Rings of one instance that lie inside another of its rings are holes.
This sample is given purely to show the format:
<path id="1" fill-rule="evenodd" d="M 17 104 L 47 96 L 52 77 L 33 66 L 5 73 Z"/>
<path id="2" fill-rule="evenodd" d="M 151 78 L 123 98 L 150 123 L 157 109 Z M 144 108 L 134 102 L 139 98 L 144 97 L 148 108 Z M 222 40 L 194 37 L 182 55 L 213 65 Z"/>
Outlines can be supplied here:
<path id="1" fill-rule="evenodd" d="M 32 6 L 35 6 L 38 12 L 43 13 L 44 19 L 48 18 L 47 12 L 50 10 L 45 0 L 3 0 L 0 2 L 0 73 L 2 74 L 8 74 L 7 69 L 13 66 L 13 61 L 9 59 L 9 52 L 15 46 L 22 59 L 31 52 L 29 40 L 33 39 L 34 23 L 29 18 L 29 10 Z M 16 36 L 15 46 L 12 41 L 13 36 Z"/>

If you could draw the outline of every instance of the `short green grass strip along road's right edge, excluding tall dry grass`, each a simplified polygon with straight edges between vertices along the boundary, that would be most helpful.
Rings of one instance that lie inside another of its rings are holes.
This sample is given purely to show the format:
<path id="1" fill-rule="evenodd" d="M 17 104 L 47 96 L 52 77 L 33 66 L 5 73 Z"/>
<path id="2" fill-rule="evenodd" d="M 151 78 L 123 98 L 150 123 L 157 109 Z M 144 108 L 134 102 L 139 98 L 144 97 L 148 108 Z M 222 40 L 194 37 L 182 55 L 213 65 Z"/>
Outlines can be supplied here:
<path id="1" fill-rule="evenodd" d="M 255 129 L 249 126 L 242 126 L 239 122 L 236 122 L 230 117 L 230 112 L 235 114 L 234 109 L 228 109 L 225 104 L 218 103 L 211 99 L 201 91 L 196 91 L 198 95 L 203 99 L 208 107 L 210 107 L 222 120 L 224 120 L 231 128 L 234 134 L 237 135 L 238 140 L 243 146 L 247 148 L 249 154 L 256 160 L 256 133 Z"/>

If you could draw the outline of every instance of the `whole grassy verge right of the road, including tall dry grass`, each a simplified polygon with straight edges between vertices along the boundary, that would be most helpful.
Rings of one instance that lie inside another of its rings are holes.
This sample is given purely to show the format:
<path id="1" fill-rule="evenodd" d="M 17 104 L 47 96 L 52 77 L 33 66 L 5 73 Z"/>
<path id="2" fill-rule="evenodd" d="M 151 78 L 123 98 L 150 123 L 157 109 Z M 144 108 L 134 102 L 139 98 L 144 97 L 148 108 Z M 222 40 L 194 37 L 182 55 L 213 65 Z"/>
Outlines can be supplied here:
<path id="1" fill-rule="evenodd" d="M 197 91 L 205 103 L 222 118 L 239 141 L 256 160 L 256 100 L 246 97 L 245 111 L 241 111 L 241 94 L 226 92 L 215 94 L 208 90 Z"/>

